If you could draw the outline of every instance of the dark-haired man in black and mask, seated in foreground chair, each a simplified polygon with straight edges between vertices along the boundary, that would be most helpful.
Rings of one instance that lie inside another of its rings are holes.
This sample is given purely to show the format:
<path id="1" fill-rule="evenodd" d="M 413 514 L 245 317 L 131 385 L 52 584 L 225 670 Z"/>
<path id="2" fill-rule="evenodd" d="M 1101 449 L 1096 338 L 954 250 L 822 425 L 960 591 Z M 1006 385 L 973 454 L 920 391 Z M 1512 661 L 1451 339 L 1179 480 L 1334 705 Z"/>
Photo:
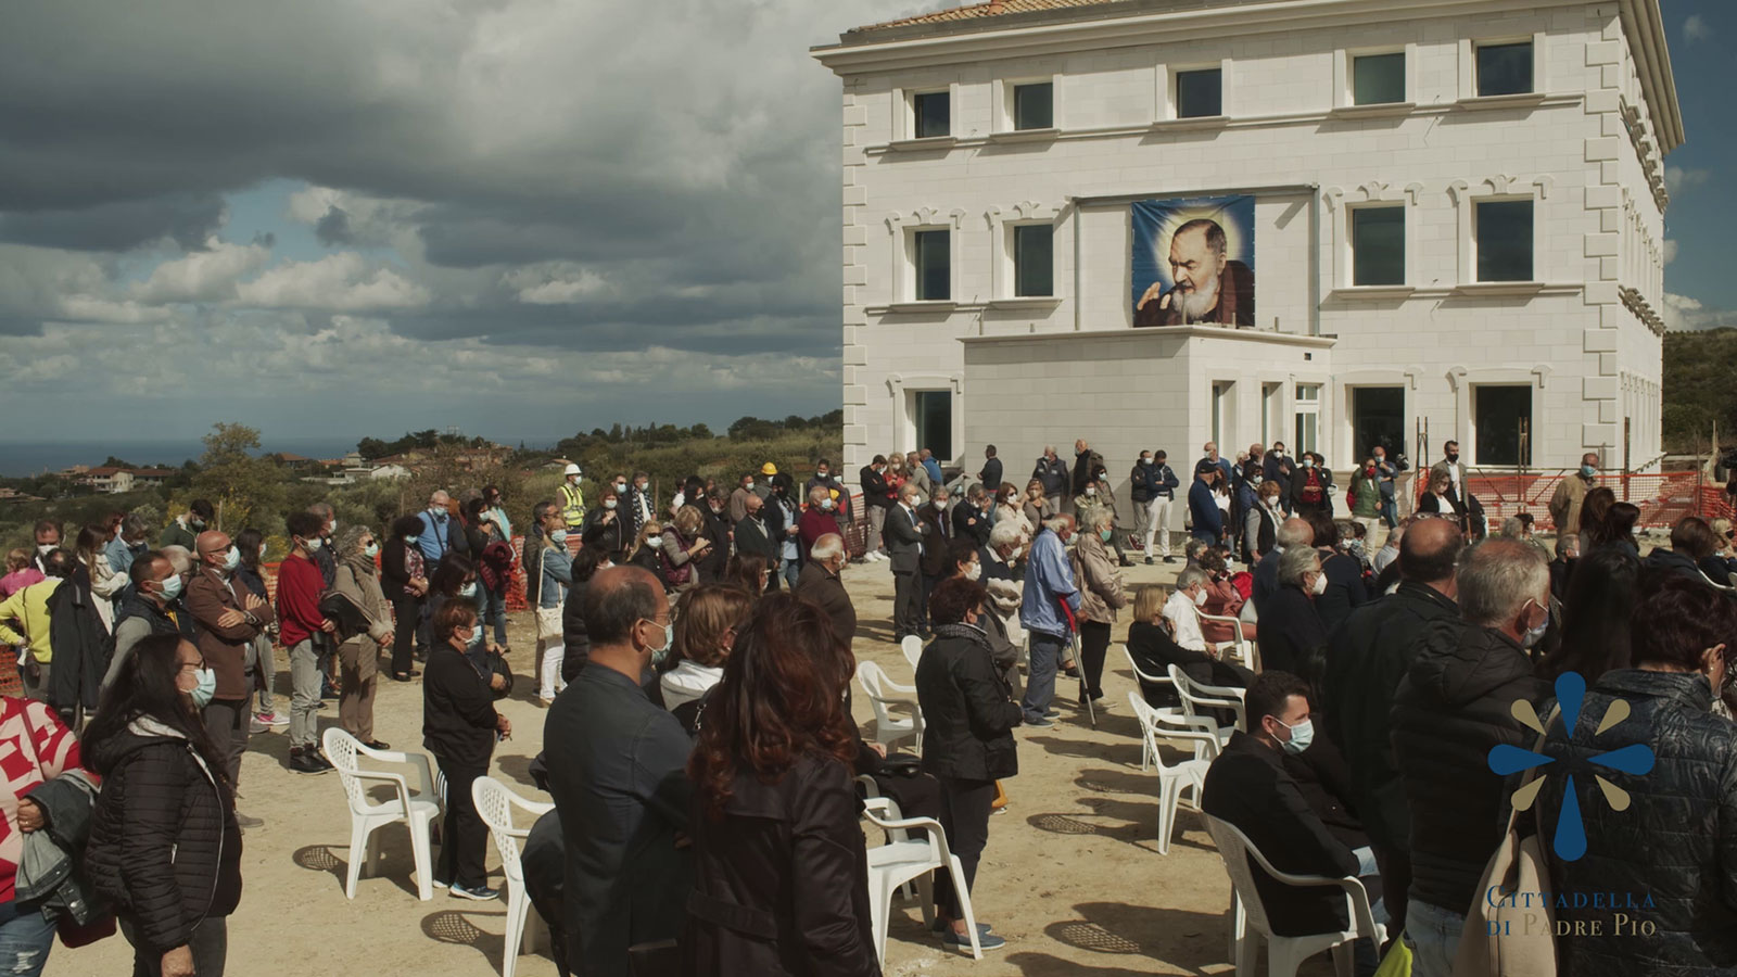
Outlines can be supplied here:
<path id="1" fill-rule="evenodd" d="M 1249 683 L 1244 704 L 1249 732 L 1232 734 L 1212 761 L 1200 810 L 1247 834 L 1282 873 L 1362 876 L 1376 904 L 1381 880 L 1367 841 L 1337 819 L 1329 826 L 1292 775 L 1291 761 L 1315 741 L 1308 683 L 1287 671 L 1263 671 Z M 1249 869 L 1275 935 L 1301 937 L 1350 927 L 1344 894 L 1337 888 L 1284 885 L 1259 866 Z M 1376 918 L 1381 918 L 1379 907 Z M 1357 958 L 1360 974 L 1376 970 L 1376 947 L 1367 940 L 1357 944 Z"/>

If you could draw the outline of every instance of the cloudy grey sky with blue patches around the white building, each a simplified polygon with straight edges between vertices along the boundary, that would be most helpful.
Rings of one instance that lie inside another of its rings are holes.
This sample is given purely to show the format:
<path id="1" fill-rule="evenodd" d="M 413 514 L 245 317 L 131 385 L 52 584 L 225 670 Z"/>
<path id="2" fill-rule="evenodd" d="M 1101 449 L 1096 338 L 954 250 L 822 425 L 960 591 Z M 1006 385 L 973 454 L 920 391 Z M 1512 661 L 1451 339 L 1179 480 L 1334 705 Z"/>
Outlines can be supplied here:
<path id="1" fill-rule="evenodd" d="M 0 442 L 818 414 L 837 80 L 936 0 L 56 0 L 0 31 Z M 1737 3 L 1668 0 L 1681 327 L 1737 323 Z"/>

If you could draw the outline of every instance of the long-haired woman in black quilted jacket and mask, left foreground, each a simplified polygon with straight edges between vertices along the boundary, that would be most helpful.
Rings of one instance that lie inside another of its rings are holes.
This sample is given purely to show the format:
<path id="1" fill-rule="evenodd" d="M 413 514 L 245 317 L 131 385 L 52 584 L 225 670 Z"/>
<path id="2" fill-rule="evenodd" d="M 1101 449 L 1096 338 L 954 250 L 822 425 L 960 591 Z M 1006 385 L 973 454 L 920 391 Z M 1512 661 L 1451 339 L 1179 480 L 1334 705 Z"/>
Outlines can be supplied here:
<path id="1" fill-rule="evenodd" d="M 134 974 L 222 974 L 241 899 L 241 831 L 224 758 L 200 709 L 217 688 L 177 635 L 134 645 L 85 727 L 102 777 L 83 871 L 134 946 Z"/>

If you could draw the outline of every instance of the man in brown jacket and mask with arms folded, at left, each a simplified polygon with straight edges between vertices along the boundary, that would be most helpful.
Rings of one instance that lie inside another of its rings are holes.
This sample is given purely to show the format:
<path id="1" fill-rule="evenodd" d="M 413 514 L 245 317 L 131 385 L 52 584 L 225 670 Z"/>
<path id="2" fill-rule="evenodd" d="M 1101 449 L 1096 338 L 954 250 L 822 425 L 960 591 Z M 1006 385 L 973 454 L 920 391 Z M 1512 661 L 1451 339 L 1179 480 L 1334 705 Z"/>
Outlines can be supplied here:
<path id="1" fill-rule="evenodd" d="M 241 782 L 241 753 L 247 749 L 247 699 L 252 681 L 247 675 L 247 647 L 254 643 L 274 615 L 271 605 L 234 582 L 241 551 L 228 534 L 207 530 L 195 537 L 198 570 L 188 582 L 188 614 L 198 624 L 198 647 L 205 668 L 217 676 L 212 701 L 203 708 L 205 734 L 229 763 L 229 782 Z M 234 621 L 240 612 L 241 621 Z M 226 624 L 229 621 L 229 624 Z M 259 827 L 264 821 L 236 812 L 236 824 Z"/>

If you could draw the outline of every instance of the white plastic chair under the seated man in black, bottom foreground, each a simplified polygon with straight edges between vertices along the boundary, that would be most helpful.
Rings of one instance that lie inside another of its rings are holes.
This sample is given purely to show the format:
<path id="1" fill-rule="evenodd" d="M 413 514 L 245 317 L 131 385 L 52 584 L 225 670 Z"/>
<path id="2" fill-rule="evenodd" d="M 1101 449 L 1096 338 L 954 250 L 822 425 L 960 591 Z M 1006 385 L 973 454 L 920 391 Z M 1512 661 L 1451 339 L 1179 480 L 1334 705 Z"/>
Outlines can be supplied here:
<path id="1" fill-rule="evenodd" d="M 1212 843 L 1218 845 L 1218 854 L 1225 859 L 1225 871 L 1230 873 L 1230 885 L 1242 913 L 1244 925 L 1240 939 L 1237 940 L 1238 977 L 1247 977 L 1254 972 L 1254 951 L 1259 946 L 1256 940 L 1261 939 L 1266 940 L 1268 977 L 1294 977 L 1298 967 L 1301 967 L 1304 960 L 1324 949 L 1332 951 L 1332 967 L 1339 977 L 1350 977 L 1351 942 L 1367 939 L 1374 940 L 1379 947 L 1386 940 L 1388 930 L 1377 923 L 1374 913 L 1370 913 L 1369 892 L 1364 890 L 1362 881 L 1351 876 L 1327 878 L 1282 873 L 1266 861 L 1266 855 L 1263 855 L 1259 848 L 1249 841 L 1249 836 L 1237 829 L 1237 826 L 1212 815 L 1204 817 L 1205 829 L 1212 834 Z M 1271 923 L 1266 920 L 1266 906 L 1261 904 L 1261 894 L 1254 888 L 1254 869 L 1249 867 L 1251 859 L 1259 864 L 1266 874 L 1285 885 L 1339 887 L 1344 890 L 1344 913 L 1351 921 L 1351 928 L 1329 934 L 1311 934 L 1306 937 L 1275 937 Z"/>

